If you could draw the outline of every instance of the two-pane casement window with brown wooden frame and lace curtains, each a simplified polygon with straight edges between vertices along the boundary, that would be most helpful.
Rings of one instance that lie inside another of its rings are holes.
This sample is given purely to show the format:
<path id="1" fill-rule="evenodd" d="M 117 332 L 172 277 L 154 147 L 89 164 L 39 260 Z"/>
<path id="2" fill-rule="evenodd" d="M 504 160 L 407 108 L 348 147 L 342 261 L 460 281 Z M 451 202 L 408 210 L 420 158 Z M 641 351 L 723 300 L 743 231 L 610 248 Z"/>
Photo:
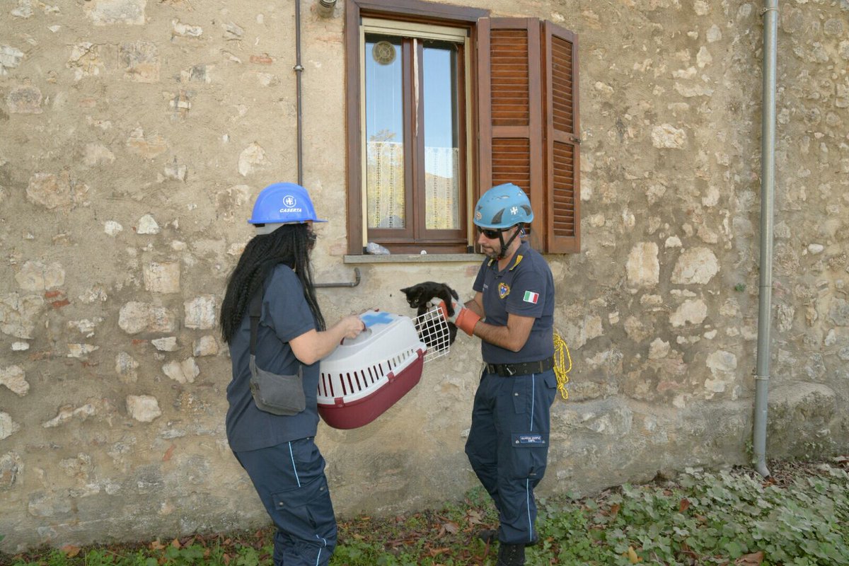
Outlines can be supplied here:
<path id="1" fill-rule="evenodd" d="M 468 32 L 365 18 L 361 28 L 368 238 L 464 250 Z"/>

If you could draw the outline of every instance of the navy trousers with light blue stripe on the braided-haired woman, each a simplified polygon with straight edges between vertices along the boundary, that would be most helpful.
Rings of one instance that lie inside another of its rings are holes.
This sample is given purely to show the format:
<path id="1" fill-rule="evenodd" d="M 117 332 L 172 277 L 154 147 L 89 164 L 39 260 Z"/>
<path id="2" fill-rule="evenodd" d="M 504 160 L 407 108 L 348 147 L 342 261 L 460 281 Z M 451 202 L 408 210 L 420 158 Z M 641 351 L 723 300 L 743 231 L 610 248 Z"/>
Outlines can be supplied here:
<path id="1" fill-rule="evenodd" d="M 277 526 L 274 566 L 327 566 L 336 518 L 314 439 L 235 452 Z"/>

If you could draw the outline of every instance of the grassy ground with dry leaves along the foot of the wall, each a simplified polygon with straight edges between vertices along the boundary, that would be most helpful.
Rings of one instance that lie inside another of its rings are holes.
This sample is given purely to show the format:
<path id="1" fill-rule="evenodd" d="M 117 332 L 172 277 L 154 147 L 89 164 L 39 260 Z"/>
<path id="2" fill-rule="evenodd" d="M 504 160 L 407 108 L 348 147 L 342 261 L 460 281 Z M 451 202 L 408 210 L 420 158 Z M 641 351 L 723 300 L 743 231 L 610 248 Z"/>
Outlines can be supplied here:
<path id="1" fill-rule="evenodd" d="M 829 462 L 771 462 L 771 477 L 762 479 L 749 468 L 735 468 L 728 472 L 726 478 L 734 481 L 748 482 L 749 485 L 760 486 L 760 489 L 775 488 L 786 490 L 800 489 L 800 485 L 818 487 L 817 479 L 829 479 L 836 474 L 846 476 L 849 470 L 849 457 L 837 457 Z M 831 470 L 829 472 L 829 470 Z M 842 470 L 842 472 L 841 472 Z M 712 476 L 711 476 L 712 477 Z M 761 566 L 778 564 L 770 558 L 770 552 L 765 551 L 768 544 L 764 542 L 761 549 L 746 547 L 745 543 L 737 549 L 734 541 L 722 548 L 727 549 L 728 555 L 722 552 L 705 552 L 703 549 L 688 546 L 680 542 L 676 546 L 673 560 L 662 559 L 658 552 L 652 552 L 647 545 L 644 535 L 633 534 L 627 540 L 620 541 L 618 551 L 609 554 L 612 558 L 599 560 L 580 557 L 604 556 L 597 552 L 604 537 L 599 534 L 614 528 L 617 521 L 626 519 L 634 523 L 651 522 L 651 511 L 647 518 L 637 518 L 633 501 L 625 502 L 623 497 L 634 493 L 644 494 L 646 507 L 650 507 L 651 499 L 645 494 L 659 494 L 659 497 L 678 494 L 678 490 L 686 483 L 676 480 L 657 479 L 654 484 L 630 488 L 621 486 L 599 493 L 593 498 L 569 500 L 563 498 L 556 506 L 541 502 L 541 526 L 543 541 L 528 551 L 529 566 L 543 564 L 721 564 L 734 566 Z M 801 483 L 800 483 L 801 480 Z M 838 479 L 838 481 L 843 481 Z M 849 488 L 849 485 L 844 485 Z M 841 488 L 841 484 L 838 484 Z M 638 491 L 634 491 L 638 490 Z M 693 513 L 698 528 L 708 528 L 716 523 L 716 518 L 706 517 L 708 513 L 702 509 L 694 513 L 694 506 L 704 502 L 697 496 L 674 495 L 672 512 L 688 515 Z M 636 497 L 638 499 L 638 497 Z M 790 499 L 790 497 L 788 497 Z M 745 499 L 745 497 L 744 497 Z M 802 501 L 805 501 L 804 498 Z M 719 507 L 719 506 L 717 506 Z M 630 513 L 629 516 L 623 515 Z M 842 513 L 846 513 L 844 509 Z M 568 517 L 567 517 L 568 515 Z M 339 523 L 339 545 L 331 560 L 331 566 L 491 566 L 495 563 L 496 549 L 476 538 L 476 533 L 484 529 L 494 529 L 498 525 L 497 513 L 492 503 L 482 490 L 472 490 L 464 502 L 449 503 L 441 510 L 425 510 L 396 517 L 342 518 Z M 565 525 L 565 526 L 564 526 Z M 649 525 L 650 526 L 650 525 Z M 620 529 L 621 527 L 616 527 Z M 624 532 L 624 531 L 623 531 Z M 650 531 L 649 531 L 650 532 Z M 849 535 L 849 531 L 841 531 Z M 586 535 L 587 541 L 581 538 Z M 662 533 L 655 537 L 663 539 Z M 838 535 L 841 536 L 841 535 Z M 177 538 L 163 537 L 156 541 L 141 541 L 110 546 L 93 546 L 80 548 L 65 546 L 60 549 L 39 549 L 9 557 L 0 555 L 0 564 L 14 566 L 97 566 L 113 564 L 115 566 L 158 566 L 160 564 L 212 564 L 223 566 L 265 566 L 271 564 L 273 545 L 273 528 L 262 530 L 228 533 L 228 534 L 198 534 Z M 844 543 L 849 541 L 844 538 Z M 605 545 L 613 548 L 616 541 L 604 541 Z M 840 541 L 838 541 L 840 544 Z M 582 546 L 584 551 L 582 551 Z M 842 547 L 842 546 L 841 546 Z M 569 552 L 566 552 L 566 551 Z M 574 551 L 574 552 L 572 552 Z M 621 552 L 620 552 L 621 551 Z M 774 552 L 773 552 L 774 555 Z M 577 558 L 569 558 L 577 557 Z M 771 561 L 772 560 L 772 561 Z M 806 562 L 807 561 L 807 562 Z M 818 561 L 818 558 L 802 558 L 800 561 L 788 564 L 830 564 L 837 562 Z M 846 558 L 849 563 L 849 558 Z"/>

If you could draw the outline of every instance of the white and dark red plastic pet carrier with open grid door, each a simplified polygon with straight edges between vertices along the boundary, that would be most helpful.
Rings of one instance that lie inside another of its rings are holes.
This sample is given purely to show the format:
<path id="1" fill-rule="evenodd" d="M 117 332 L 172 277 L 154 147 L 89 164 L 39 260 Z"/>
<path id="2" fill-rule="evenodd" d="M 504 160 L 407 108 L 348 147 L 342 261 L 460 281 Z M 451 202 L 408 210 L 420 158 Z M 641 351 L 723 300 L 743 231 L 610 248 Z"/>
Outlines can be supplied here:
<path id="1" fill-rule="evenodd" d="M 356 429 L 380 417 L 419 383 L 424 361 L 445 355 L 449 346 L 447 322 L 432 311 L 415 322 L 381 311 L 360 318 L 366 329 L 342 340 L 320 365 L 318 413 L 334 429 Z M 440 334 L 444 343 L 425 344 L 421 328 Z"/>

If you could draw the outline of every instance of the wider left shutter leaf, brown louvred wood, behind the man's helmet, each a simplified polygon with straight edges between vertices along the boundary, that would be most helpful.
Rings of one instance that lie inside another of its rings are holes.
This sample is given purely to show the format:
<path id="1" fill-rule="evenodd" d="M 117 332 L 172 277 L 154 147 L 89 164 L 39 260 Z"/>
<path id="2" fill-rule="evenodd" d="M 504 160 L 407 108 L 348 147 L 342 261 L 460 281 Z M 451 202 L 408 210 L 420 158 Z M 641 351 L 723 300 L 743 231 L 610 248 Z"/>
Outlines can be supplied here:
<path id="1" fill-rule="evenodd" d="M 539 68 L 539 20 L 478 20 L 478 194 L 505 182 L 522 188 L 544 208 L 543 116 Z M 544 217 L 544 216 L 543 216 Z M 531 230 L 531 245 L 545 249 L 544 231 Z"/>

